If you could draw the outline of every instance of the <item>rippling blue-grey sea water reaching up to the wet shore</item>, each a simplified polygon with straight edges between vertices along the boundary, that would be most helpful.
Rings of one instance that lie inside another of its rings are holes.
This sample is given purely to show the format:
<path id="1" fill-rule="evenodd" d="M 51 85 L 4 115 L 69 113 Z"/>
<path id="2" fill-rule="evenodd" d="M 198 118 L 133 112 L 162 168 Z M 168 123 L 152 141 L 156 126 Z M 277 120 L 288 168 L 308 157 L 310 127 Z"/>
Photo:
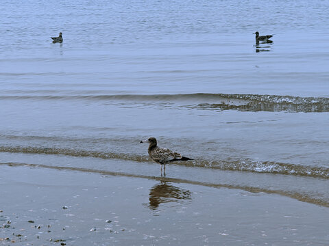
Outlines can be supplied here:
<path id="1" fill-rule="evenodd" d="M 329 206 L 328 9 L 2 0 L 0 162 L 160 176 L 156 137 L 169 178 Z"/>

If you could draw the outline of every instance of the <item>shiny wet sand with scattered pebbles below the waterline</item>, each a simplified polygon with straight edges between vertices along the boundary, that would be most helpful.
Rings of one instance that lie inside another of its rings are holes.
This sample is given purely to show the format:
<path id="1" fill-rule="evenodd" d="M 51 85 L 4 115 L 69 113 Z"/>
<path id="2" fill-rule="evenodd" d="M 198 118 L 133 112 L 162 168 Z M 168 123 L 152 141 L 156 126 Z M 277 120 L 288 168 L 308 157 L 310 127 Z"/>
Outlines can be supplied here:
<path id="1" fill-rule="evenodd" d="M 0 245 L 328 245 L 328 208 L 276 194 L 1 165 Z"/>

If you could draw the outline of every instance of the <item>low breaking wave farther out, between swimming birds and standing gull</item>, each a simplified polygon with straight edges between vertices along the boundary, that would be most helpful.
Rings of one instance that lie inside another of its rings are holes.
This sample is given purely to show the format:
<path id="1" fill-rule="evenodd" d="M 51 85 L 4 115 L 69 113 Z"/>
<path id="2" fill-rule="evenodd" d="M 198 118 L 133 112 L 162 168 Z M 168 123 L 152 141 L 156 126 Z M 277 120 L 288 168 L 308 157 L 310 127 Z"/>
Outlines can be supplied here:
<path id="1" fill-rule="evenodd" d="M 329 98 L 257 94 L 115 94 L 80 92 L 79 95 L 0 95 L 0 100 L 93 100 L 125 102 L 173 102 L 173 107 L 239 111 L 329 112 Z M 8 93 L 10 94 L 10 93 Z"/>

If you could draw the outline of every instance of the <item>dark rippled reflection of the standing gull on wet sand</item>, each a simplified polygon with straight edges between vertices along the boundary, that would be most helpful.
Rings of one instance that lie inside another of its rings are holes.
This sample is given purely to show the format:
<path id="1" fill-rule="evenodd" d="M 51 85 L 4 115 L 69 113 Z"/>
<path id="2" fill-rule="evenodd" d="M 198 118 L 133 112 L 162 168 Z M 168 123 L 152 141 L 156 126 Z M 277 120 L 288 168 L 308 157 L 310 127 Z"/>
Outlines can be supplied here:
<path id="1" fill-rule="evenodd" d="M 162 203 L 191 200 L 191 191 L 161 181 L 149 191 L 149 208 L 156 210 Z"/>

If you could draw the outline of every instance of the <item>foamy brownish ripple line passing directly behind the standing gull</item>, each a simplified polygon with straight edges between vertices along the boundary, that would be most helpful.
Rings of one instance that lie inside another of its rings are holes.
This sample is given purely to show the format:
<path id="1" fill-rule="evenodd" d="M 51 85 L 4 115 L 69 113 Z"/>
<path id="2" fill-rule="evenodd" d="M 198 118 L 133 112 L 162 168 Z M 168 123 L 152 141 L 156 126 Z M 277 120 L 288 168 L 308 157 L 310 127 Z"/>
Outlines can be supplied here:
<path id="1" fill-rule="evenodd" d="M 91 157 L 99 159 L 121 159 L 125 161 L 145 162 L 150 161 L 148 156 L 137 154 L 123 154 L 110 152 L 96 152 L 87 150 L 72 150 L 64 148 L 39 148 L 22 146 L 0 146 L 0 152 L 26 153 L 26 154 L 58 154 L 75 157 Z M 222 169 L 239 172 L 256 172 L 262 174 L 284 174 L 294 176 L 308 176 L 315 178 L 329 179 L 329 168 L 310 167 L 295 165 L 290 163 L 278 163 L 273 161 L 252 161 L 246 160 L 221 160 L 210 161 L 206 159 L 195 159 L 184 163 L 175 163 L 175 165 L 184 165 L 188 167 L 204 167 L 212 169 Z"/>

